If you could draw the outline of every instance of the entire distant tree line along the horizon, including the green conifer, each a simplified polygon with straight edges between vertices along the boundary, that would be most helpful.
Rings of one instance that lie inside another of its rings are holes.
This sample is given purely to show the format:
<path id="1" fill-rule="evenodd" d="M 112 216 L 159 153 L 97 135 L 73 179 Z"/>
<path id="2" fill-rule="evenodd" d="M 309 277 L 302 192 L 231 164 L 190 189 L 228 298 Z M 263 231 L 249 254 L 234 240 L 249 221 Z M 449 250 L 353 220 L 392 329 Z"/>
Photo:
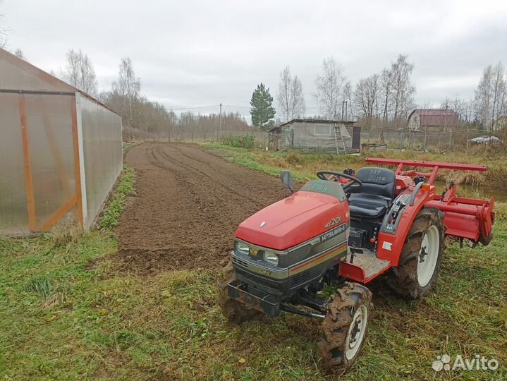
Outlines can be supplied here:
<path id="1" fill-rule="evenodd" d="M 6 42 L 5 30 L 0 30 L 0 47 Z M 16 56 L 26 59 L 21 49 Z M 403 128 L 407 117 L 415 108 L 428 109 L 432 104 L 416 105 L 416 87 L 412 83 L 414 63 L 408 56 L 400 54 L 396 61 L 379 73 L 358 80 L 355 87 L 346 77 L 341 63 L 334 57 L 322 61 L 322 71 L 315 79 L 316 91 L 312 97 L 319 112 L 307 113 L 303 85 L 298 75 L 293 75 L 289 66 L 279 76 L 276 92 L 276 108 L 269 87 L 260 83 L 252 93 L 250 113 L 252 125 L 267 130 L 276 123 L 299 117 L 319 119 L 358 120 L 363 129 Z M 56 75 L 53 71 L 51 74 Z M 140 78 L 135 75 L 132 60 L 121 59 L 118 78 L 111 90 L 99 92 L 97 77 L 92 61 L 82 50 L 70 49 L 66 54 L 66 65 L 59 73 L 67 83 L 97 97 L 107 107 L 121 115 L 123 126 L 147 132 L 182 131 L 212 132 L 221 127 L 224 131 L 247 131 L 248 123 L 239 113 L 193 114 L 190 111 L 176 114 L 165 109 L 163 104 L 150 102 L 141 93 Z M 471 99 L 446 97 L 441 109 L 453 109 L 460 123 L 472 128 L 494 131 L 507 128 L 507 71 L 502 62 L 484 68 L 475 95 Z"/>

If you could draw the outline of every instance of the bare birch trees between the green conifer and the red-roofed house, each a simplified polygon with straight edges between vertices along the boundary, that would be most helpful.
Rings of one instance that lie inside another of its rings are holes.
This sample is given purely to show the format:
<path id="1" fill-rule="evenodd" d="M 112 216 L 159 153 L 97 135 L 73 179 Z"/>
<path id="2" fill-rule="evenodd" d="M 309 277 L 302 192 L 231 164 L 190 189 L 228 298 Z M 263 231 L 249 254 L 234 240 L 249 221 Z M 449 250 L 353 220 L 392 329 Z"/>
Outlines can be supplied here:
<path id="1" fill-rule="evenodd" d="M 324 119 L 362 119 L 367 128 L 379 121 L 384 125 L 401 126 L 415 107 L 415 86 L 411 82 L 414 64 L 400 54 L 391 66 L 380 73 L 362 78 L 353 89 L 343 65 L 332 56 L 322 61 L 322 71 L 315 79 L 319 114 Z M 277 94 L 280 121 L 305 115 L 303 85 L 298 76 L 291 76 L 286 66 L 280 73 Z"/>

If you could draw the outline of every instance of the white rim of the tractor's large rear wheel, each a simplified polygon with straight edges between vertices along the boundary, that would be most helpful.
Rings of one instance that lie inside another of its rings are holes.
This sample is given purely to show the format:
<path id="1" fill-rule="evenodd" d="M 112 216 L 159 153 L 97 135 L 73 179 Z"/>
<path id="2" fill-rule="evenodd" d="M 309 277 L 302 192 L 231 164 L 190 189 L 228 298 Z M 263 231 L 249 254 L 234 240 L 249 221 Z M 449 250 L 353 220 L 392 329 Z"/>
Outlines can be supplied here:
<path id="1" fill-rule="evenodd" d="M 421 287 L 427 286 L 435 272 L 436 260 L 439 258 L 440 234 L 435 226 L 429 226 L 422 236 L 421 250 L 417 256 L 417 282 Z"/>

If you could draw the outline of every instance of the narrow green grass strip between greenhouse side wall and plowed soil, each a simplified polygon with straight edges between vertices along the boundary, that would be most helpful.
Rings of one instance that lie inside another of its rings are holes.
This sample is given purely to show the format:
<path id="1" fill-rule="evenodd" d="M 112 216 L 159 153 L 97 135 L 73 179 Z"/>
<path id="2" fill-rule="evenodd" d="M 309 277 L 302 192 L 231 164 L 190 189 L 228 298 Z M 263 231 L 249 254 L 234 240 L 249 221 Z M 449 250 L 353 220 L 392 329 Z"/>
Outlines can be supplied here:
<path id="1" fill-rule="evenodd" d="M 127 197 L 134 191 L 134 174 L 135 170 L 133 167 L 128 165 L 123 167 L 123 174 L 116 185 L 116 191 L 106 210 L 104 210 L 104 215 L 100 221 L 102 228 L 110 229 L 118 225 L 118 218 L 125 208 Z"/>

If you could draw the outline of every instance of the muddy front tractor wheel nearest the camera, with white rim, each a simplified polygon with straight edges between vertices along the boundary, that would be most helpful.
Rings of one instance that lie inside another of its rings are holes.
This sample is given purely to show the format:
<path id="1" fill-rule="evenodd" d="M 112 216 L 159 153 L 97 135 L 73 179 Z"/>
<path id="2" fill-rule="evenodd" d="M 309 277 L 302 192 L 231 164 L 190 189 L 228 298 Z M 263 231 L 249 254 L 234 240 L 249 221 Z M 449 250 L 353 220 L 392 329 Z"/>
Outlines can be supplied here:
<path id="1" fill-rule="evenodd" d="M 372 293 L 358 283 L 346 282 L 327 306 L 322 339 L 317 344 L 322 365 L 331 373 L 346 373 L 365 343 Z"/>

